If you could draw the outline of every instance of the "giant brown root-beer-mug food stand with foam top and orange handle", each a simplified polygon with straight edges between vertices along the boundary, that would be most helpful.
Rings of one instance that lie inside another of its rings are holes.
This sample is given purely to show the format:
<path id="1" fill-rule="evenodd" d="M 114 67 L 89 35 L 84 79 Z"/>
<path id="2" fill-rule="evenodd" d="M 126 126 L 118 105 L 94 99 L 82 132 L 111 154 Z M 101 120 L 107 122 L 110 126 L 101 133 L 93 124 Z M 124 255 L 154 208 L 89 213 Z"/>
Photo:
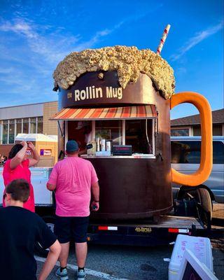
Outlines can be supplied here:
<path id="1" fill-rule="evenodd" d="M 53 117 L 67 140 L 97 171 L 97 218 L 148 218 L 172 209 L 172 182 L 198 186 L 211 172 L 211 110 L 195 92 L 174 94 L 174 73 L 151 50 L 116 46 L 71 52 L 54 73 L 59 112 Z M 188 102 L 200 111 L 200 169 L 187 175 L 171 167 L 170 109 Z"/>

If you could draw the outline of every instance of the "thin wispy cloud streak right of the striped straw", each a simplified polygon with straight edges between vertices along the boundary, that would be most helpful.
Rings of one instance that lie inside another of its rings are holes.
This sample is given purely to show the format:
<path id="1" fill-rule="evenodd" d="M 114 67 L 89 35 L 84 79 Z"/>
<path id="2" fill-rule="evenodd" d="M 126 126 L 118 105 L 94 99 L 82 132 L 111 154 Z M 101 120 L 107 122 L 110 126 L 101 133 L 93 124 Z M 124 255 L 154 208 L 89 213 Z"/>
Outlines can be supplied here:
<path id="1" fill-rule="evenodd" d="M 223 29 L 223 21 L 221 21 L 218 25 L 215 25 L 213 27 L 209 27 L 206 30 L 200 31 L 195 36 L 190 38 L 179 50 L 176 52 L 176 54 L 171 56 L 172 61 L 175 61 L 179 59 L 182 55 L 184 55 L 188 50 L 193 48 L 198 43 L 204 41 L 204 39 L 208 38 L 209 36 L 216 34 L 218 31 Z"/>

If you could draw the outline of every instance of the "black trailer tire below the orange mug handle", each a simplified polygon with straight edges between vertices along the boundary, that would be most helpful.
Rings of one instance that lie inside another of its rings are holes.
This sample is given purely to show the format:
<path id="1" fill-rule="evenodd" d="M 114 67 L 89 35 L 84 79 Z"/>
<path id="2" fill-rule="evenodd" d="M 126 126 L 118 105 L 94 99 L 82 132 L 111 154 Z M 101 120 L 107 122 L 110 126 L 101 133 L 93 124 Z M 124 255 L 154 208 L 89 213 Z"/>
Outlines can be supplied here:
<path id="1" fill-rule="evenodd" d="M 209 191 L 205 188 L 197 189 L 197 200 L 200 203 L 202 209 L 204 209 L 204 211 L 199 209 L 199 218 L 201 219 L 202 223 L 204 223 L 204 225 L 211 225 L 212 202 Z"/>

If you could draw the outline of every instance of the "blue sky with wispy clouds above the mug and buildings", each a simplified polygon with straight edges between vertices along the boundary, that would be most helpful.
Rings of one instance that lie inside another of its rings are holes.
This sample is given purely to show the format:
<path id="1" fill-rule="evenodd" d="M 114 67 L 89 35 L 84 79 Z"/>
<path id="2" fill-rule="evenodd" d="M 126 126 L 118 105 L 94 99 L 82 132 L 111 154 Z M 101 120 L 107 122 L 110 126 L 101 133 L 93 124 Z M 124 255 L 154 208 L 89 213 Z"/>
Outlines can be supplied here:
<path id="1" fill-rule="evenodd" d="M 52 72 L 71 51 L 108 45 L 156 50 L 174 68 L 176 92 L 223 108 L 223 1 L 0 1 L 0 107 L 57 100 Z M 172 118 L 197 113 L 190 105 Z"/>

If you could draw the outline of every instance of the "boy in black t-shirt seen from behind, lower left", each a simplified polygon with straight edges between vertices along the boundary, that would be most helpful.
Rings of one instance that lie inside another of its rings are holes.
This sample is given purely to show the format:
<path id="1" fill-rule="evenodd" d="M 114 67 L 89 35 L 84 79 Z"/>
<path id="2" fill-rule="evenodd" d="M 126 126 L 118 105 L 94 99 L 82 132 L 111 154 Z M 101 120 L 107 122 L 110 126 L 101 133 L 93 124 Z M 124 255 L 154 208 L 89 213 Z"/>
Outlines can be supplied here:
<path id="1" fill-rule="evenodd" d="M 0 279 L 36 280 L 34 244 L 50 248 L 38 280 L 47 279 L 59 257 L 57 237 L 35 213 L 22 208 L 29 198 L 29 183 L 14 180 L 6 187 L 6 207 L 0 209 Z"/>

